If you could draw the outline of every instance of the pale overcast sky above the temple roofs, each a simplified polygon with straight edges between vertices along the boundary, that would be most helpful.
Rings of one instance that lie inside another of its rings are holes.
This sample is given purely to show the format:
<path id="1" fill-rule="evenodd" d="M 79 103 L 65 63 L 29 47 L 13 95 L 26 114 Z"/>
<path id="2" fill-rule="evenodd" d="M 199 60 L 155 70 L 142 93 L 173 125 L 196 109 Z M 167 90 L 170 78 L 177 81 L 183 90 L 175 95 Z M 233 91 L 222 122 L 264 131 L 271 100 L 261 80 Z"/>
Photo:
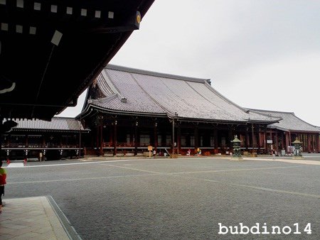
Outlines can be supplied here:
<path id="1" fill-rule="evenodd" d="M 242 107 L 320 126 L 320 1 L 156 0 L 110 63 L 208 78 Z"/>

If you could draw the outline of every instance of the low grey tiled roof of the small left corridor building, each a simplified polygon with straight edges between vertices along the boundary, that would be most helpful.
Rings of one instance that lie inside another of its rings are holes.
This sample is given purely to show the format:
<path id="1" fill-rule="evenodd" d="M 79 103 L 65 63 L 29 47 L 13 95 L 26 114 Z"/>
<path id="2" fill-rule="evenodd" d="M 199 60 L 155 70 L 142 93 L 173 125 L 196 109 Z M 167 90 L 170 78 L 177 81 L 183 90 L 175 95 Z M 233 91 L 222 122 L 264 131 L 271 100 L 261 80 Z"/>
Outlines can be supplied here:
<path id="1" fill-rule="evenodd" d="M 39 119 L 12 119 L 18 123 L 13 130 L 36 130 L 36 131 L 89 131 L 83 129 L 80 121 L 74 118 L 53 117 L 51 121 Z"/>

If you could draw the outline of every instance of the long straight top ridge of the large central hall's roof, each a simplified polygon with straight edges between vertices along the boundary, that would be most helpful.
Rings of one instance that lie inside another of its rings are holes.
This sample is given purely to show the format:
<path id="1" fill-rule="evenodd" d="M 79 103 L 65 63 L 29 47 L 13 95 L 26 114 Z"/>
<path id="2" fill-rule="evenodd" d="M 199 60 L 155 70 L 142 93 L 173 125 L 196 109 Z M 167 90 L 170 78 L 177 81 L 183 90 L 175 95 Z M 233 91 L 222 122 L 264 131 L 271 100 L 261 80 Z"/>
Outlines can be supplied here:
<path id="1" fill-rule="evenodd" d="M 171 78 L 174 80 L 183 80 L 183 81 L 190 81 L 190 82 L 210 82 L 210 79 L 205 79 L 205 78 L 185 77 L 185 76 L 181 76 L 181 75 L 173 75 L 173 74 L 162 73 L 162 72 L 153 72 L 153 71 L 141 70 L 141 69 L 137 69 L 137 68 L 133 68 L 133 67 L 123 67 L 123 66 L 112 65 L 112 64 L 108 64 L 105 68 L 110 69 L 110 70 L 131 72 L 131 73 L 137 73 L 137 74 L 142 74 L 142 75 L 150 75 L 150 76 L 154 76 L 154 77 L 166 77 L 166 78 Z"/>

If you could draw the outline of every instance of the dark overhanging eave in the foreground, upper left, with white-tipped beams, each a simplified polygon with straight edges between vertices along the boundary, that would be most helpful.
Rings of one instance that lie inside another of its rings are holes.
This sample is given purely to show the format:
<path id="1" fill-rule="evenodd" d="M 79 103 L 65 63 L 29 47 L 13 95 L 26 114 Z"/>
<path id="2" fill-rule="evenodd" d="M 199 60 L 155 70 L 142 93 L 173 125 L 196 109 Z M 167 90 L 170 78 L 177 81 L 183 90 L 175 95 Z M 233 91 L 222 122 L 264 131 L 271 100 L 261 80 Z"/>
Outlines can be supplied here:
<path id="1" fill-rule="evenodd" d="M 143 17 L 153 2 L 65 0 L 53 11 L 46 1 L 38 9 L 30 1 L 23 1 L 22 8 L 15 1 L 2 1 L 0 79 L 8 80 L 4 89 L 13 83 L 15 88 L 0 94 L 1 116 L 50 119 L 75 106 L 80 94 L 139 28 L 137 14 Z M 73 11 L 67 13 L 65 6 Z M 53 43 L 56 31 L 62 37 Z"/>

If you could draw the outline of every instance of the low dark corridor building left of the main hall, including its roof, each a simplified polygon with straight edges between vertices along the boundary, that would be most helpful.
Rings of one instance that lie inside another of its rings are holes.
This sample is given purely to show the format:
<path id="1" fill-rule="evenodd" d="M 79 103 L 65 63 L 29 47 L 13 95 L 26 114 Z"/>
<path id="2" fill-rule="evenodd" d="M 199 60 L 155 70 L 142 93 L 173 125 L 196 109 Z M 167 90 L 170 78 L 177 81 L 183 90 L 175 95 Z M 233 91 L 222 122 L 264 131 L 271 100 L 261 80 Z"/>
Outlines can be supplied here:
<path id="1" fill-rule="evenodd" d="M 5 119 L 6 120 L 6 119 Z M 74 118 L 53 117 L 51 121 L 14 119 L 18 126 L 1 139 L 1 158 L 9 160 L 57 160 L 79 155 L 82 136 L 90 132 Z M 82 152 L 83 153 L 83 152 Z M 41 159 L 40 159 L 41 157 Z"/>

